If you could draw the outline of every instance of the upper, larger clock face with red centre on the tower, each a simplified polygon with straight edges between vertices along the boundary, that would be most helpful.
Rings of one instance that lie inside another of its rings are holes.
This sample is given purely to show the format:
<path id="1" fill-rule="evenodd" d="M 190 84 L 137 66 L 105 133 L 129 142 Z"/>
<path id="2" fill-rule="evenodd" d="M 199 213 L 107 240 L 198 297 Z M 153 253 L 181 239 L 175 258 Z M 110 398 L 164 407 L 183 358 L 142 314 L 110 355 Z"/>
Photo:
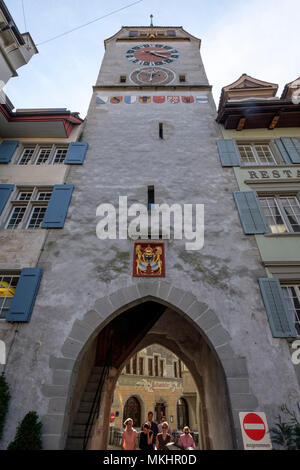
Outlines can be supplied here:
<path id="1" fill-rule="evenodd" d="M 179 58 L 179 52 L 164 44 L 142 44 L 126 52 L 126 58 L 133 64 L 142 66 L 160 66 L 171 64 Z"/>

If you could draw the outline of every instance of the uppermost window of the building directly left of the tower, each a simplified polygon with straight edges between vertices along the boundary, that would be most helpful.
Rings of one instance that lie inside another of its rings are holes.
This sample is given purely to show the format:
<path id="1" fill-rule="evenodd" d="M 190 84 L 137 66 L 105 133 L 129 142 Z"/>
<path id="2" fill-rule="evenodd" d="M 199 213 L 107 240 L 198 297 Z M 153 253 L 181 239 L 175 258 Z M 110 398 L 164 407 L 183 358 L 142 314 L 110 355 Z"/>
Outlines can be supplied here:
<path id="1" fill-rule="evenodd" d="M 17 164 L 22 166 L 62 164 L 67 152 L 67 145 L 25 145 L 21 147 Z"/>

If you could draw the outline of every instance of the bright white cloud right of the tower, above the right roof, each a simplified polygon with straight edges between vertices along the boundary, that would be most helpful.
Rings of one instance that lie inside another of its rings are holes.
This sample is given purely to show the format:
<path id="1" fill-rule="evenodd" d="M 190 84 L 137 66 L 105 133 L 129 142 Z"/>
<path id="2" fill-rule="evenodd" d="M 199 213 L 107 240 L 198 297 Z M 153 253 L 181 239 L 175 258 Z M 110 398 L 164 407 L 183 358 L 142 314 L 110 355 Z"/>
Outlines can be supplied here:
<path id="1" fill-rule="evenodd" d="M 299 76 L 298 0 L 240 2 L 204 38 L 202 56 L 218 103 L 221 88 L 247 73 L 278 83 Z"/>

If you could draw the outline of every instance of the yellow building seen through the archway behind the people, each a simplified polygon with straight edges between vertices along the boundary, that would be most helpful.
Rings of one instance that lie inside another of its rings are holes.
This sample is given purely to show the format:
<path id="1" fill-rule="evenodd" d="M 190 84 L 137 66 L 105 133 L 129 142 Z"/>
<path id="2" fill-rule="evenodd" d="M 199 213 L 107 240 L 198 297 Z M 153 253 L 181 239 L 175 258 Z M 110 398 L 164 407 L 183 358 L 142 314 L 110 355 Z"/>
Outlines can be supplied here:
<path id="1" fill-rule="evenodd" d="M 152 345 L 126 364 L 117 381 L 111 408 L 111 426 L 121 430 L 127 418 L 140 430 L 149 411 L 161 423 L 165 416 L 172 431 L 184 426 L 198 432 L 197 387 L 185 365 L 167 349 Z"/>

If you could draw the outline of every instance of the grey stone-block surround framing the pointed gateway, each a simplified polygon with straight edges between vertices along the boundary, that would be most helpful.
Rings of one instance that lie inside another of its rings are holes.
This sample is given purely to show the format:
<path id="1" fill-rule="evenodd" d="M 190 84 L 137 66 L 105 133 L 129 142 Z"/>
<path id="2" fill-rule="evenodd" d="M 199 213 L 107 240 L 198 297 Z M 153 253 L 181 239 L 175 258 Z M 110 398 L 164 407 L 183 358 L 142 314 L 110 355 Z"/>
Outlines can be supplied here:
<path id="1" fill-rule="evenodd" d="M 207 304 L 165 281 L 145 280 L 97 300 L 94 310 L 87 312 L 82 319 L 75 320 L 62 347 L 61 356 L 50 358 L 53 383 L 42 389 L 48 400 L 48 412 L 42 417 L 45 449 L 63 449 L 65 446 L 79 367 L 99 332 L 130 307 L 148 300 L 171 308 L 186 324 L 192 325 L 193 331 L 201 334 L 210 348 L 211 354 L 220 365 L 228 390 L 227 413 L 231 423 L 232 447 L 242 448 L 238 412 L 255 410 L 257 407 L 257 400 L 249 388 L 246 359 L 235 355 L 230 344 L 230 335 L 223 328 L 218 315 Z M 174 345 L 168 343 L 165 346 L 174 350 Z M 184 357 L 182 359 L 187 363 Z M 187 366 L 189 367 L 188 364 Z"/>

